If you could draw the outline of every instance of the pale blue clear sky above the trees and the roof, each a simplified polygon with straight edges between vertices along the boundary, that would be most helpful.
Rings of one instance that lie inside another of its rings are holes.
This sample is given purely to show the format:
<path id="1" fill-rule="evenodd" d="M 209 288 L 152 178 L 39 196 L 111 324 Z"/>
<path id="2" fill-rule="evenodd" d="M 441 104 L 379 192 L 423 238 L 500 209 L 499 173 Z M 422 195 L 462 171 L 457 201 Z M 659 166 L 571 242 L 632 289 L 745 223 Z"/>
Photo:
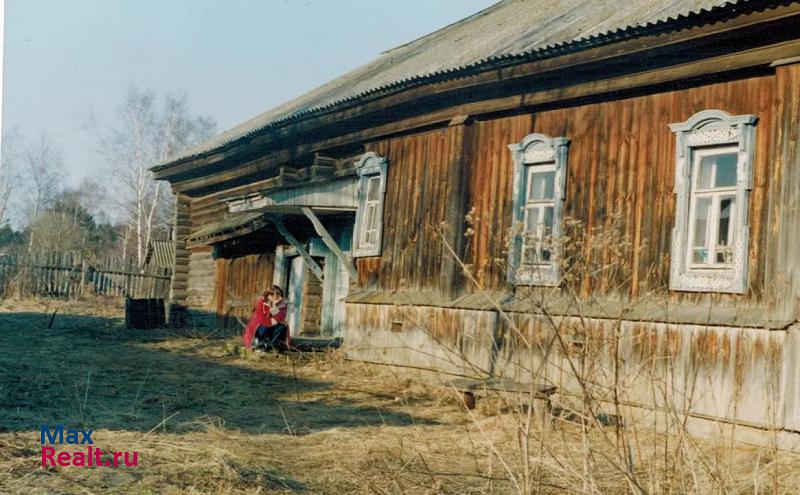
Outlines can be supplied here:
<path id="1" fill-rule="evenodd" d="M 89 116 L 130 87 L 185 93 L 218 131 L 495 0 L 5 0 L 3 127 L 45 133 L 77 184 Z"/>

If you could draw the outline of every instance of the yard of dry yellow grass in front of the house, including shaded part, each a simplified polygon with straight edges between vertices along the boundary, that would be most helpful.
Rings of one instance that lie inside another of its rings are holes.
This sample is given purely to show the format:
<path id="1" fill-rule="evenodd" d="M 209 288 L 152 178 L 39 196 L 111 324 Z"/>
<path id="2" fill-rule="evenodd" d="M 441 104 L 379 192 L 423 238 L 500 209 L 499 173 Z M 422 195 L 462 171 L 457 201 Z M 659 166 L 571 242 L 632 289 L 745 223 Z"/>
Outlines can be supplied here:
<path id="1" fill-rule="evenodd" d="M 113 300 L 0 307 L 0 492 L 517 491 L 507 473 L 519 459 L 518 422 L 502 401 L 467 412 L 455 391 L 339 352 L 240 356 L 230 351 L 235 336 L 127 330 L 120 314 Z M 39 426 L 57 423 L 95 430 L 103 450 L 138 451 L 139 466 L 41 468 Z M 534 492 L 581 493 L 580 428 L 559 421 L 548 438 L 551 445 L 530 454 L 539 459 Z M 661 442 L 643 433 L 641 444 Z M 655 455 L 637 459 L 648 473 L 686 471 L 685 481 L 669 477 L 671 486 L 656 481 L 654 492 L 696 491 L 698 483 L 715 487 L 708 493 L 800 486 L 794 455 L 703 449 L 727 463 L 714 471 L 722 483 L 692 479 L 684 461 L 662 468 Z M 592 491 L 627 493 L 602 459 L 593 461 Z"/>

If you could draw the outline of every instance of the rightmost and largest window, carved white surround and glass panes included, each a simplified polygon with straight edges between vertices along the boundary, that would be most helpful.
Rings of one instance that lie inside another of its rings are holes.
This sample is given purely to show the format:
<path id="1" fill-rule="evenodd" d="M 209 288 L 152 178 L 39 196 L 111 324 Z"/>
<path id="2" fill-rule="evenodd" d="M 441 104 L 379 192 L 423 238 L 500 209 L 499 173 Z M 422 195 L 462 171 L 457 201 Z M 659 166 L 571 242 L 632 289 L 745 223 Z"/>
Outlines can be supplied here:
<path id="1" fill-rule="evenodd" d="M 671 124 L 676 220 L 670 288 L 743 293 L 756 118 L 719 110 Z"/>

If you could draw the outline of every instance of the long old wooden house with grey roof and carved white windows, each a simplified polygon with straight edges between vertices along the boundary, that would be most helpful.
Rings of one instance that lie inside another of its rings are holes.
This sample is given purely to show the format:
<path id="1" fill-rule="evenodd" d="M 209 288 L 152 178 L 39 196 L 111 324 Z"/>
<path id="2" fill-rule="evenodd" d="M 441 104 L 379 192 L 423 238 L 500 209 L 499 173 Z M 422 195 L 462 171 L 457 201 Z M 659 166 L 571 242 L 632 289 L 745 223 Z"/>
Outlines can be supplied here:
<path id="1" fill-rule="evenodd" d="M 799 134 L 800 2 L 502 1 L 155 166 L 172 318 L 275 283 L 353 358 L 517 378 L 511 327 L 580 322 L 794 438 Z"/>

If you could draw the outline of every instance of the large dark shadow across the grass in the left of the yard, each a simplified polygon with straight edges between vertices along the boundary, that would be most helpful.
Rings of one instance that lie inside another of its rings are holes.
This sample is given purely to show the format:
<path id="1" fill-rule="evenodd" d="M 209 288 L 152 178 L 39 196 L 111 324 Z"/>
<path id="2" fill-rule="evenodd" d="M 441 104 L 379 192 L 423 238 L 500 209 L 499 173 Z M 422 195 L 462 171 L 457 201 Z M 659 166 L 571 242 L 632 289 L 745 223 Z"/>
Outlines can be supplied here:
<path id="1" fill-rule="evenodd" d="M 330 382 L 297 378 L 290 359 L 271 358 L 282 361 L 258 369 L 194 352 L 220 341 L 78 315 L 59 315 L 48 329 L 50 317 L 0 314 L 0 432 L 63 423 L 181 433 L 224 424 L 247 433 L 303 434 L 432 423 L 388 403 L 367 407 L 337 397 Z M 176 346 L 181 339 L 185 345 Z"/>

